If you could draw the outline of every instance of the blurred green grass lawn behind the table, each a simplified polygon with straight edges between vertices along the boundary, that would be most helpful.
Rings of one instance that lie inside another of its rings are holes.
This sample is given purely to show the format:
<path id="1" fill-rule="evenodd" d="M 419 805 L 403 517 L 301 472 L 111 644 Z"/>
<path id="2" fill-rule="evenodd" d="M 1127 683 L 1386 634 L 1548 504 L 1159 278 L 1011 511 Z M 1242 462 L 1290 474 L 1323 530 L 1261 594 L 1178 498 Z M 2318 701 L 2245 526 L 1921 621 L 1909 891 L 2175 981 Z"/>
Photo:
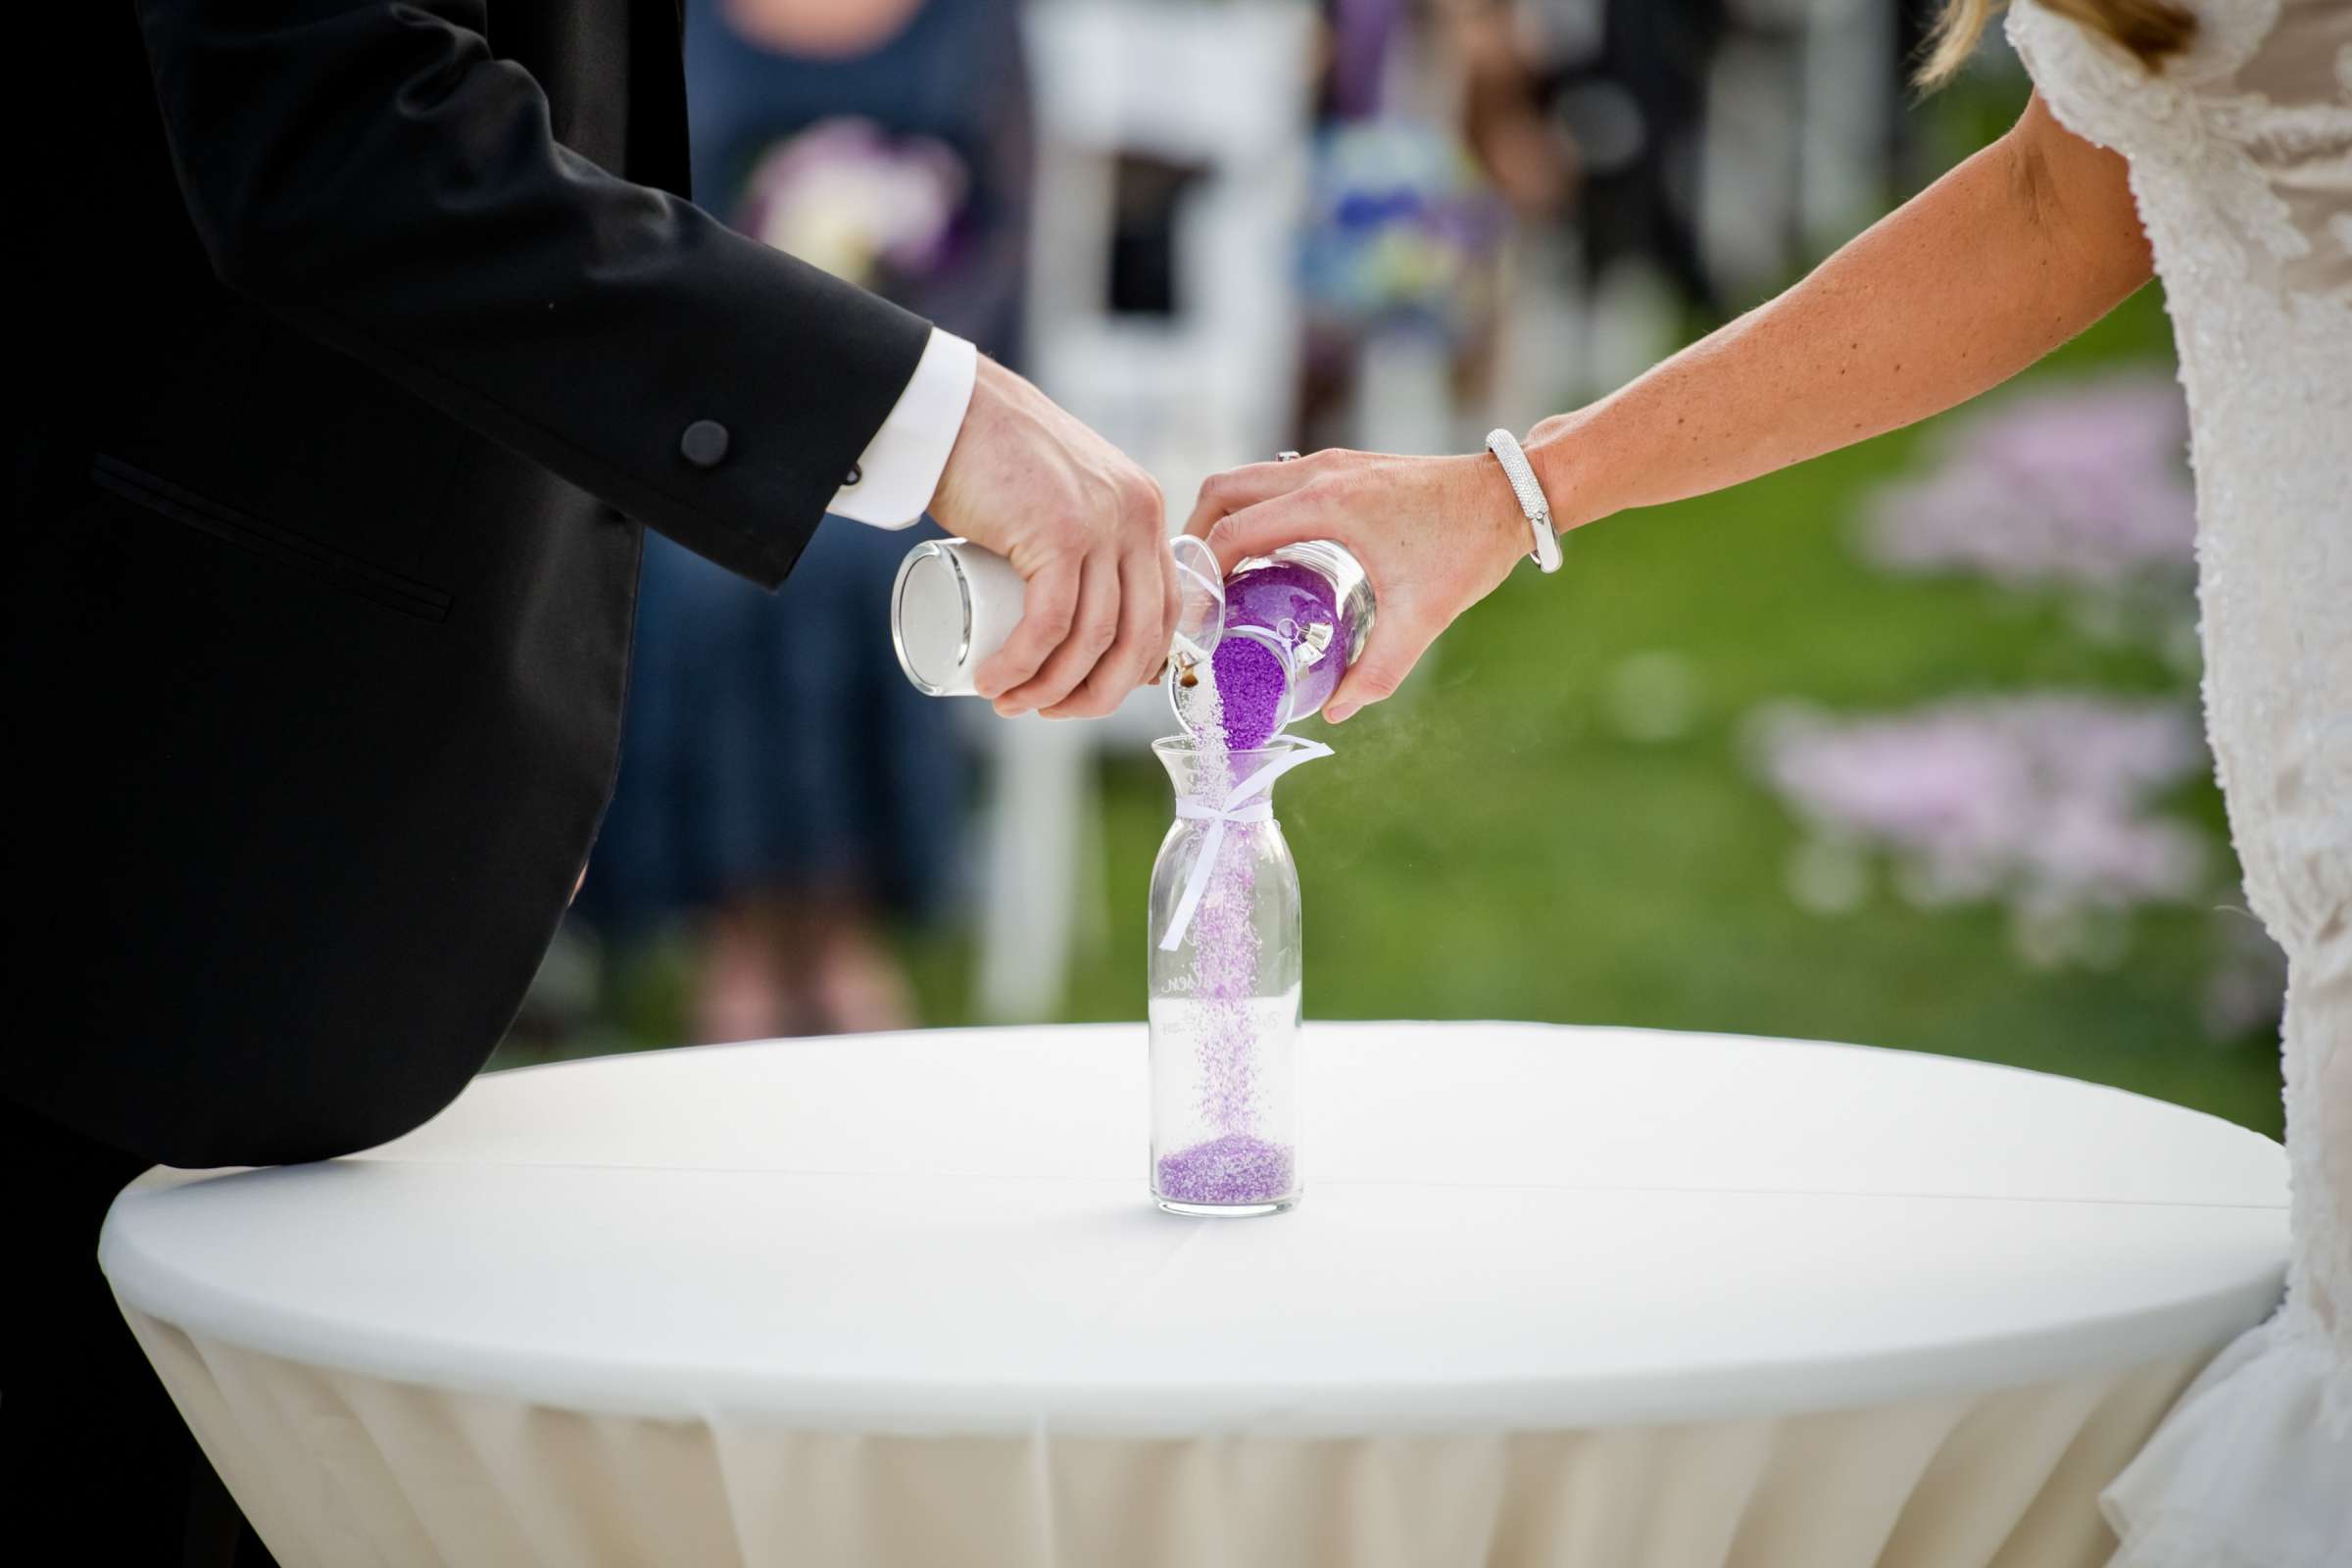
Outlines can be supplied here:
<path id="1" fill-rule="evenodd" d="M 2034 374 L 2166 353 L 2147 289 Z M 1849 543 L 1856 501 L 1919 440 L 1585 529 L 1566 571 L 1517 574 L 1404 696 L 1308 724 L 1338 748 L 1277 802 L 1305 884 L 1308 1016 L 1846 1039 L 2119 1084 L 2277 1135 L 2274 1044 L 2216 1044 L 2199 1023 L 2209 910 L 2145 912 L 2117 964 L 2053 973 L 2013 957 L 1992 907 L 1915 910 L 1884 879 L 1842 917 L 1788 898 L 1799 832 L 1743 764 L 1755 705 L 2183 686 L 2152 656 L 2086 642 L 2058 604 L 1867 569 Z M 1691 677 L 1675 738 L 1632 738 L 1613 717 L 1613 682 L 1642 654 Z M 2180 809 L 2218 823 L 2206 783 Z M 1075 969 L 1068 1018 L 1141 1018 L 1167 820 L 1157 766 L 1112 764 L 1110 926 Z M 917 945 L 934 1020 L 962 1018 L 967 973 L 962 936 Z"/>

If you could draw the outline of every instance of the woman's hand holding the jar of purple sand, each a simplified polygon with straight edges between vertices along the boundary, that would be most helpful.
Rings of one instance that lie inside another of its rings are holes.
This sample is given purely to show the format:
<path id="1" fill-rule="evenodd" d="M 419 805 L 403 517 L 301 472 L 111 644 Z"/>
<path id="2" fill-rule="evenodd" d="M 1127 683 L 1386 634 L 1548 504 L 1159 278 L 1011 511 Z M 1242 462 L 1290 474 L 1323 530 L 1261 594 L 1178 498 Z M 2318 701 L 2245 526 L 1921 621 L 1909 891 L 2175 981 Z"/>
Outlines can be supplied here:
<path id="1" fill-rule="evenodd" d="M 1534 543 L 1503 465 L 1484 451 L 1317 451 L 1232 468 L 1200 487 L 1185 534 L 1207 538 L 1225 571 L 1308 538 L 1338 541 L 1364 562 L 1378 614 L 1324 705 L 1331 724 L 1390 696 L 1437 632 L 1494 592 Z"/>

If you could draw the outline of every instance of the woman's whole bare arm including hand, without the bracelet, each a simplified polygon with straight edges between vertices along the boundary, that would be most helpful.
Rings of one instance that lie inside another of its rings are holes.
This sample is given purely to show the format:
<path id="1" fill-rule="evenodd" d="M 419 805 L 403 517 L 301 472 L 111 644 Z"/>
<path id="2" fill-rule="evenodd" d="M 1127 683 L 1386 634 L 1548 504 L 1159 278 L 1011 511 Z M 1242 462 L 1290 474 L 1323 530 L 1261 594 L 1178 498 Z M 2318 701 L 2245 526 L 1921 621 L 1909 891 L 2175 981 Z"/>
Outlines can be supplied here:
<path id="1" fill-rule="evenodd" d="M 1529 456 L 1562 529 L 1698 496 L 1940 414 L 2065 343 L 2147 275 L 2124 160 L 2034 96 L 2006 136 L 1804 282 L 1536 425 Z M 1324 710 L 1331 722 L 1390 696 L 1529 548 L 1486 454 L 1254 463 L 1209 480 L 1188 527 L 1228 567 L 1336 538 L 1371 571 L 1381 616 Z"/>

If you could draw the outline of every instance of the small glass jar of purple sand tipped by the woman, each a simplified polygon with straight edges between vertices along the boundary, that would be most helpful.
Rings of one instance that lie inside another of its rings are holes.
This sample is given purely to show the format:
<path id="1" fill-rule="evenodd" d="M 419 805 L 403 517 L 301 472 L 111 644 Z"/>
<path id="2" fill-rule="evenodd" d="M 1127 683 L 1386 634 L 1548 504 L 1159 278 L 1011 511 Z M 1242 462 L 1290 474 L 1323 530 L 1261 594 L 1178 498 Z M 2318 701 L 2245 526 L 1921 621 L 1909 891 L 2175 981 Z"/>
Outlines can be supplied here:
<path id="1" fill-rule="evenodd" d="M 1225 578 L 1223 637 L 1207 682 L 1169 682 L 1176 719 L 1192 733 L 1216 724 L 1232 750 L 1254 750 L 1289 724 L 1322 712 L 1371 635 L 1364 564 L 1327 538 L 1256 555 Z"/>

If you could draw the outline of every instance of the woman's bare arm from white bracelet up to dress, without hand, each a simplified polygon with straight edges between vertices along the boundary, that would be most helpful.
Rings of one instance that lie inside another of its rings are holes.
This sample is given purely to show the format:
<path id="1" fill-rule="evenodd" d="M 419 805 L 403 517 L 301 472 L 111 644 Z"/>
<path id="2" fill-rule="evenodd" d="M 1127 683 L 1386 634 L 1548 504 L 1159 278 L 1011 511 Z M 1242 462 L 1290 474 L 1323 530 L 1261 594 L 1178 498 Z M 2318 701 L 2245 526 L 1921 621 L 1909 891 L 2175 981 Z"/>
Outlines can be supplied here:
<path id="1" fill-rule="evenodd" d="M 2150 275 L 2124 160 L 2039 99 L 1804 282 L 1618 393 L 1536 425 L 1562 527 L 1698 496 L 1940 414 Z"/>

